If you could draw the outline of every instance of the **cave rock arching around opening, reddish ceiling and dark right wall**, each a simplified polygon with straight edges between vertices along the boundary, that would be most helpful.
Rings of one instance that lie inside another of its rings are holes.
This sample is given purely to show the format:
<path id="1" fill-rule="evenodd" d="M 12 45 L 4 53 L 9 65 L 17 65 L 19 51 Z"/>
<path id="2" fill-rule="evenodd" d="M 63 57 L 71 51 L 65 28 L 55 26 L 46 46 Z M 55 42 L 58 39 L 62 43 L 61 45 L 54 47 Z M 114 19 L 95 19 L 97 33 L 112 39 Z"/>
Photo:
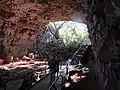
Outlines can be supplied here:
<path id="1" fill-rule="evenodd" d="M 101 90 L 119 90 L 120 1 L 45 0 L 47 3 L 42 3 L 42 1 L 39 0 L 39 4 L 36 4 L 37 0 L 32 1 L 35 2 L 34 4 L 28 3 L 31 0 L 21 0 L 18 3 L 17 1 L 14 3 L 0 1 L 0 13 L 4 13 L 2 11 L 6 14 L 14 12 L 12 15 L 0 15 L 0 31 L 4 31 L 4 44 L 8 53 L 15 56 L 28 53 L 36 43 L 39 30 L 45 28 L 50 21 L 82 18 L 88 27 L 95 58 L 95 75 Z M 79 14 L 74 16 L 73 12 L 80 12 L 82 16 Z M 24 31 L 23 29 L 25 32 L 21 32 Z"/>

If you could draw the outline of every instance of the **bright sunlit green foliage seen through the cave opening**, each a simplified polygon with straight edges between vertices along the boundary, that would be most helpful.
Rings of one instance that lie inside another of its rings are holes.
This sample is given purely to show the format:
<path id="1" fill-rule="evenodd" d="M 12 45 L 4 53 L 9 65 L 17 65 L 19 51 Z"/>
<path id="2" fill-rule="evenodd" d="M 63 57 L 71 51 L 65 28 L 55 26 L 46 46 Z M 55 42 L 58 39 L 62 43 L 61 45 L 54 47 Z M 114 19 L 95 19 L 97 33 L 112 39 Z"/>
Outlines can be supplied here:
<path id="1" fill-rule="evenodd" d="M 49 26 L 57 29 L 63 23 L 63 21 L 51 22 Z M 59 40 L 62 40 L 66 47 L 77 47 L 79 44 L 90 44 L 89 33 L 87 28 L 85 28 L 85 24 L 66 21 L 58 31 Z"/>

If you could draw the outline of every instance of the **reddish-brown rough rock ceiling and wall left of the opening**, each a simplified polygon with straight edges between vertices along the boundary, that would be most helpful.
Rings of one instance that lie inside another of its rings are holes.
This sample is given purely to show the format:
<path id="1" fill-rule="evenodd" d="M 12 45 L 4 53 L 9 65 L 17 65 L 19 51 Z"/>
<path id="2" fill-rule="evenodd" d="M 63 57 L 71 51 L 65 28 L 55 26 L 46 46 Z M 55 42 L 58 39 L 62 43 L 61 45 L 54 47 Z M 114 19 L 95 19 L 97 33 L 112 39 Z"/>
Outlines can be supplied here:
<path id="1" fill-rule="evenodd" d="M 31 51 L 41 28 L 50 21 L 69 20 L 77 6 L 73 0 L 1 0 L 0 33 L 8 55 Z"/>

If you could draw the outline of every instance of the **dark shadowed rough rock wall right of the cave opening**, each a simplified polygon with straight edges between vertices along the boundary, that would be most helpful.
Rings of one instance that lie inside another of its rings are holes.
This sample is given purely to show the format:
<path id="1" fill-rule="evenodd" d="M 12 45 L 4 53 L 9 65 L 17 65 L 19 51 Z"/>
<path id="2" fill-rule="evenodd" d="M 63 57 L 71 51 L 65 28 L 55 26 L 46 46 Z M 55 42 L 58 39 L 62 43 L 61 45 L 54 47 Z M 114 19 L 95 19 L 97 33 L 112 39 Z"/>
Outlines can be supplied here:
<path id="1" fill-rule="evenodd" d="M 97 79 L 103 90 L 120 90 L 120 1 L 82 1 L 96 59 Z"/>

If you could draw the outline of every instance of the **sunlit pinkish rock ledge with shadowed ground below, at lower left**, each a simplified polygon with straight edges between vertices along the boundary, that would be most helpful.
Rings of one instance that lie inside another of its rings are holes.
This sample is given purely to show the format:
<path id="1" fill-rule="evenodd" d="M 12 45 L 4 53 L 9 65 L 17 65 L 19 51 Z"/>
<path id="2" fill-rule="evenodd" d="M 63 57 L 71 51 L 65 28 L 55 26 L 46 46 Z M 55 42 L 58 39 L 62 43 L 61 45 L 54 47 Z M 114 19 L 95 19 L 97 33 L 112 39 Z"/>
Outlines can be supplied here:
<path id="1" fill-rule="evenodd" d="M 14 62 L 0 65 L 0 90 L 25 90 L 49 73 L 46 62 Z M 20 87 L 21 86 L 21 87 Z M 20 88 L 20 89 L 19 89 Z"/>

